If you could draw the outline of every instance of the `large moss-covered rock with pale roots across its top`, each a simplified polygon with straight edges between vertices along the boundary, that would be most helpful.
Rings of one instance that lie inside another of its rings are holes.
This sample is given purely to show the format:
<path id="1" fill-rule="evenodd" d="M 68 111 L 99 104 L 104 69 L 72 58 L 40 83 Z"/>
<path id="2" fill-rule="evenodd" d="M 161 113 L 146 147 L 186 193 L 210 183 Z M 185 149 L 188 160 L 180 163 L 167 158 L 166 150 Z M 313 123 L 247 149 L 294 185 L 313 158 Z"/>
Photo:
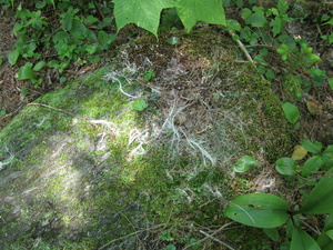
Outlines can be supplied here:
<path id="1" fill-rule="evenodd" d="M 290 148 L 291 131 L 270 82 L 251 64 L 233 62 L 239 51 L 221 41 L 208 49 L 210 39 L 222 38 L 203 32 L 176 34 L 184 68 L 170 66 L 174 47 L 159 43 L 169 54 L 151 86 L 140 81 L 149 69 L 140 53 L 127 47 L 127 59 L 41 97 L 0 131 L 0 246 L 183 248 L 203 237 L 201 226 L 225 223 L 226 200 L 251 182 L 232 177 L 231 166 L 243 154 L 272 163 Z M 150 40 L 135 46 L 144 52 Z M 199 57 L 205 68 L 189 73 Z M 168 69 L 179 78 L 163 77 Z M 174 89 L 184 79 L 188 88 Z M 135 99 L 148 109 L 134 110 Z"/>

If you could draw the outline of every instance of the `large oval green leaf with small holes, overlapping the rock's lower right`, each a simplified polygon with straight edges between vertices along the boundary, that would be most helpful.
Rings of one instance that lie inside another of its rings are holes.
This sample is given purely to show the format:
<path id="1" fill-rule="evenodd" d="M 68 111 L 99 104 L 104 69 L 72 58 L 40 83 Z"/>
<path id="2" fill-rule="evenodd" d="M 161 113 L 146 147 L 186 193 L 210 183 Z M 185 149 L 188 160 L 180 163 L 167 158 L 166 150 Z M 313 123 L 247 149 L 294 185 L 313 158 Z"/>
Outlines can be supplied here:
<path id="1" fill-rule="evenodd" d="M 233 199 L 224 214 L 240 223 L 256 228 L 276 228 L 289 218 L 285 200 L 270 193 L 249 193 Z"/>

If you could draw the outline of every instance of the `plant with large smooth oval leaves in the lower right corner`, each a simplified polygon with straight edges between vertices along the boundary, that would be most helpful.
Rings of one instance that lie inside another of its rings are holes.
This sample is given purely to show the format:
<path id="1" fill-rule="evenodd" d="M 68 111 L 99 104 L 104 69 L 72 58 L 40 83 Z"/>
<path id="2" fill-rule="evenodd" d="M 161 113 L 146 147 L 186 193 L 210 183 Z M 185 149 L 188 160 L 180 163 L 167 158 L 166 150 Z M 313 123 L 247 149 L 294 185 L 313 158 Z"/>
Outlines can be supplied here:
<path id="1" fill-rule="evenodd" d="M 317 241 L 309 236 L 300 226 L 301 214 L 331 214 L 333 213 L 333 168 L 321 178 L 310 194 L 304 200 L 303 207 L 297 210 L 290 209 L 289 203 L 274 194 L 249 193 L 233 199 L 224 214 L 240 223 L 269 229 L 265 232 L 272 239 L 279 239 L 278 227 L 287 223 L 291 232 L 291 250 L 321 249 L 321 247 L 332 246 L 333 239 L 330 238 L 332 222 L 329 219 L 326 228 L 323 229 Z M 330 230 L 327 230 L 330 228 Z M 329 232 L 329 233 L 327 233 Z M 325 240 L 323 240 L 325 238 Z M 311 246 L 311 247 L 310 247 Z M 325 248 L 329 249 L 329 248 Z"/>

